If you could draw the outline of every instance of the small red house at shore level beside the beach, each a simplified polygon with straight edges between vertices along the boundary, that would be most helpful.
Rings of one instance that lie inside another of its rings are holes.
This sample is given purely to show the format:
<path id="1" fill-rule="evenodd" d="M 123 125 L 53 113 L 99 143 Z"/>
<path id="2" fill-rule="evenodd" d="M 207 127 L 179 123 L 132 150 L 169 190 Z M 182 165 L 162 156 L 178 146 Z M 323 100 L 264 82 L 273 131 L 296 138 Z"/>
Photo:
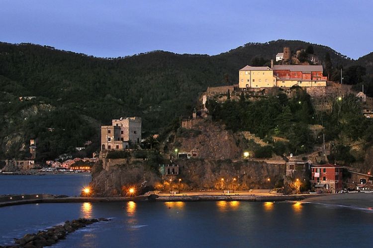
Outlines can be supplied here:
<path id="1" fill-rule="evenodd" d="M 338 193 L 343 189 L 342 166 L 325 164 L 311 167 L 312 182 L 315 188 Z"/>

